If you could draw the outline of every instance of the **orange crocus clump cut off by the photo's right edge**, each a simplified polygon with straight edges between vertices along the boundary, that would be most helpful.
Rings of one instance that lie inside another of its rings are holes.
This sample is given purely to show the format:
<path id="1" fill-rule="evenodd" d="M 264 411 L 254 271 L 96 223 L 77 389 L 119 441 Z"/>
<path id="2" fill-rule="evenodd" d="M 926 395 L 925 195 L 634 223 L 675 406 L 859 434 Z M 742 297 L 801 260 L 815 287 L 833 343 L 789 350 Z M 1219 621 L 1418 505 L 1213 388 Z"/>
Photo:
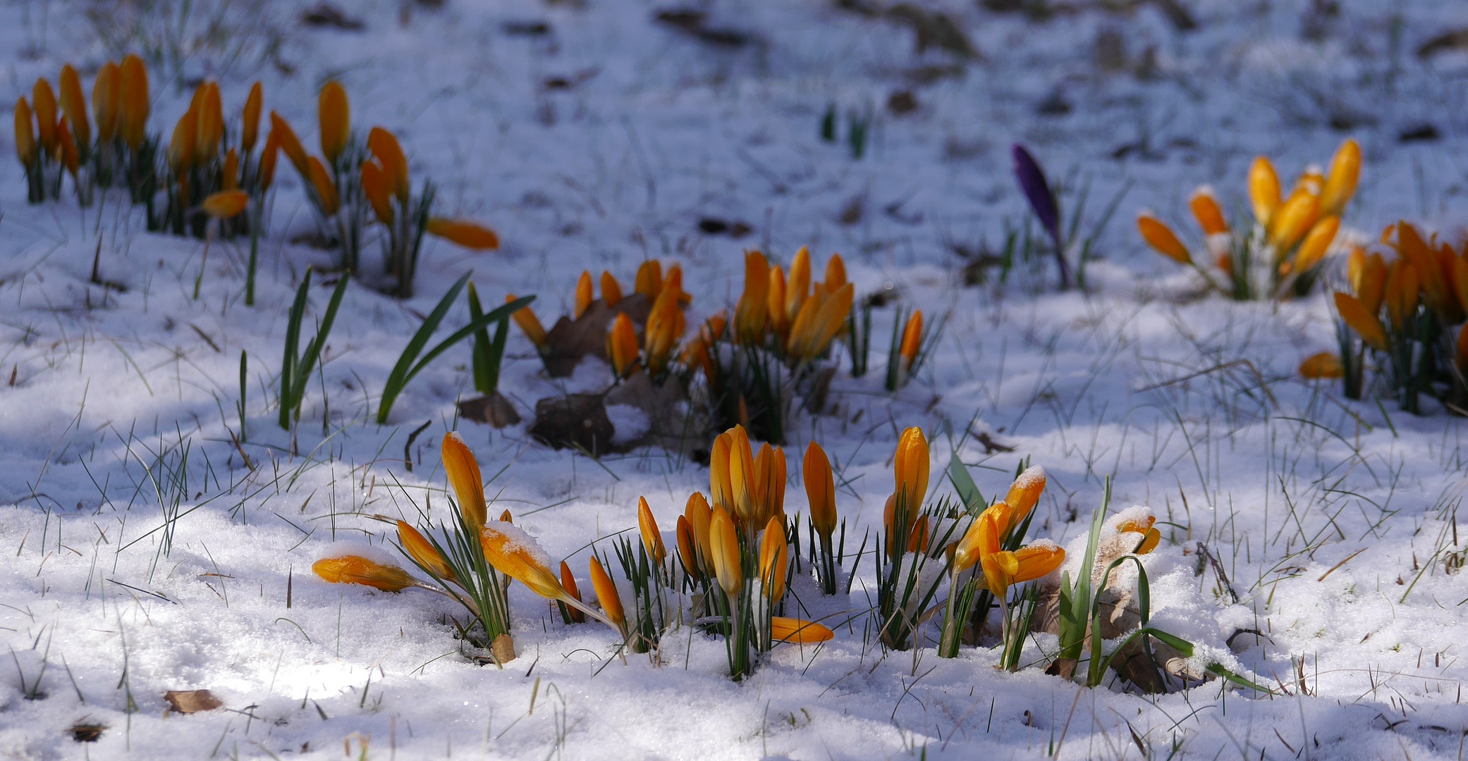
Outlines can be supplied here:
<path id="1" fill-rule="evenodd" d="M 1428 396 L 1464 413 L 1468 245 L 1455 249 L 1399 221 L 1373 246 L 1351 251 L 1343 286 L 1333 295 L 1340 353 L 1311 356 L 1301 374 L 1340 377 L 1346 397 L 1362 399 L 1373 368 L 1402 409 L 1421 412 Z"/>

